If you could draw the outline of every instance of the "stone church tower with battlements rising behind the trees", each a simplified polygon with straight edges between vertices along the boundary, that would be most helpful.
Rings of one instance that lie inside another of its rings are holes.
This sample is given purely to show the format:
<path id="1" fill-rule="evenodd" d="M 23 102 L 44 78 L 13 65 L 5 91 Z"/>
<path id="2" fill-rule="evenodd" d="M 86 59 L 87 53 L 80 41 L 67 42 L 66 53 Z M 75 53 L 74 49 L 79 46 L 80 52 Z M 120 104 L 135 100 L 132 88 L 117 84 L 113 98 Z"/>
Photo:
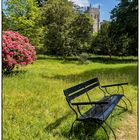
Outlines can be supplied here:
<path id="1" fill-rule="evenodd" d="M 98 32 L 100 29 L 100 6 L 98 8 L 87 7 L 87 13 L 92 17 L 93 23 L 93 32 Z"/>

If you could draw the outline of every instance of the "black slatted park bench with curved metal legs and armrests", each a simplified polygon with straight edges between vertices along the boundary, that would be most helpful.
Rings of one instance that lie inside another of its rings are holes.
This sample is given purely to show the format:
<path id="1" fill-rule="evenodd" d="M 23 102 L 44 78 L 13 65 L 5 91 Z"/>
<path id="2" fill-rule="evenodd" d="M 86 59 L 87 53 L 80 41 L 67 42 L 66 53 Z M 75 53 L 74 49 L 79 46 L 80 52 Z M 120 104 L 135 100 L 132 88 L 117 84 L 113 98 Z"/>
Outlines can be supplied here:
<path id="1" fill-rule="evenodd" d="M 75 85 L 73 87 L 70 87 L 68 89 L 64 90 L 64 95 L 66 97 L 66 100 L 70 106 L 70 108 L 75 112 L 76 119 L 72 123 L 70 134 L 73 129 L 73 125 L 76 121 L 82 121 L 82 122 L 94 122 L 98 124 L 100 127 L 103 128 L 103 130 L 106 133 L 107 138 L 109 139 L 109 135 L 107 133 L 106 127 L 108 127 L 112 134 L 114 135 L 114 139 L 116 140 L 116 135 L 111 128 L 111 126 L 106 123 L 106 119 L 110 116 L 112 111 L 114 110 L 115 106 L 118 106 L 120 108 L 124 108 L 125 110 L 128 110 L 127 102 L 131 106 L 132 111 L 132 103 L 131 101 L 125 96 L 123 85 L 127 85 L 128 83 L 119 83 L 119 84 L 112 84 L 112 85 L 104 85 L 101 86 L 99 83 L 98 78 L 90 79 L 86 82 L 80 83 L 78 85 Z M 117 94 L 112 94 L 108 91 L 108 87 L 115 87 L 117 86 Z M 88 91 L 92 90 L 93 88 L 99 88 L 101 92 L 103 93 L 103 97 L 98 101 L 91 101 L 91 98 L 89 96 Z M 120 89 L 122 90 L 120 92 Z M 82 96 L 83 94 L 86 94 L 88 97 L 87 102 L 73 102 L 74 99 Z M 123 101 L 125 107 L 120 106 L 118 103 L 119 101 Z M 127 102 L 126 102 L 127 101 Z M 90 109 L 88 109 L 85 113 L 81 113 L 81 106 L 87 106 L 91 105 Z M 76 108 L 75 108 L 76 107 Z M 105 124 L 106 127 L 103 126 Z"/>

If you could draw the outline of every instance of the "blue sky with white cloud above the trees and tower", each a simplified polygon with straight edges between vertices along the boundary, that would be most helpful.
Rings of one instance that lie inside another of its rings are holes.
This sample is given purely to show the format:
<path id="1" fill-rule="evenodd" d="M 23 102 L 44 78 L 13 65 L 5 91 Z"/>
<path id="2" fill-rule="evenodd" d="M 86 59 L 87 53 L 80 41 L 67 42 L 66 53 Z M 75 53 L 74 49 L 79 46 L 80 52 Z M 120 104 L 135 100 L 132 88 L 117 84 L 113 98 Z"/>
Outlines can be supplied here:
<path id="1" fill-rule="evenodd" d="M 6 0 L 3 0 L 3 3 Z M 87 7 L 90 5 L 93 7 L 98 7 L 100 5 L 100 21 L 109 20 L 110 12 L 118 4 L 118 0 L 70 0 L 81 7 Z M 3 8 L 5 7 L 2 4 Z"/>

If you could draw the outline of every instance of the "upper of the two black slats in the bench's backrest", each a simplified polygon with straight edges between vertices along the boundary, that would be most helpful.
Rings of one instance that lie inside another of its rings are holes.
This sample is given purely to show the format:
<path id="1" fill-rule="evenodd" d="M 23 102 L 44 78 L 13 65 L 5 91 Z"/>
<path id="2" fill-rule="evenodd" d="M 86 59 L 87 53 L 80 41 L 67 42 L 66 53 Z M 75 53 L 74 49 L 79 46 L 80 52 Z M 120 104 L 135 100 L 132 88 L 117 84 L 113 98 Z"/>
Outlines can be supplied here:
<path id="1" fill-rule="evenodd" d="M 80 90 L 81 88 L 84 88 L 84 87 L 86 87 L 86 86 L 88 86 L 90 84 L 96 83 L 96 82 L 99 82 L 98 78 L 88 80 L 88 81 L 80 83 L 80 84 L 78 84 L 76 86 L 73 86 L 73 87 L 70 87 L 68 89 L 65 89 L 64 94 L 65 94 L 65 96 L 67 96 L 67 95 L 69 95 L 69 94 L 71 94 L 71 93 L 73 93 L 73 92 L 75 92 L 77 90 Z"/>

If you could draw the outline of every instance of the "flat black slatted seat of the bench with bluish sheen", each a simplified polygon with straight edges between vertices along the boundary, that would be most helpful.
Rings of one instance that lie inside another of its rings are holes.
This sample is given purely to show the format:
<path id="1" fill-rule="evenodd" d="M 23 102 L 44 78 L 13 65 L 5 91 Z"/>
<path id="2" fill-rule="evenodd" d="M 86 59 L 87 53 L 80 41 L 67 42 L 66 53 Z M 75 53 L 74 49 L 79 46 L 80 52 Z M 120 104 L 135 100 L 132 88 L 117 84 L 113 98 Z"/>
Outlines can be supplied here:
<path id="1" fill-rule="evenodd" d="M 86 119 L 97 119 L 101 121 L 106 120 L 109 114 L 112 112 L 112 110 L 114 109 L 114 107 L 120 101 L 122 97 L 123 97 L 123 94 L 114 94 L 112 96 L 103 97 L 100 101 L 110 100 L 110 102 L 104 105 L 103 108 L 100 105 L 93 106 L 86 113 L 80 116 L 77 120 L 79 121 L 83 121 Z"/>

